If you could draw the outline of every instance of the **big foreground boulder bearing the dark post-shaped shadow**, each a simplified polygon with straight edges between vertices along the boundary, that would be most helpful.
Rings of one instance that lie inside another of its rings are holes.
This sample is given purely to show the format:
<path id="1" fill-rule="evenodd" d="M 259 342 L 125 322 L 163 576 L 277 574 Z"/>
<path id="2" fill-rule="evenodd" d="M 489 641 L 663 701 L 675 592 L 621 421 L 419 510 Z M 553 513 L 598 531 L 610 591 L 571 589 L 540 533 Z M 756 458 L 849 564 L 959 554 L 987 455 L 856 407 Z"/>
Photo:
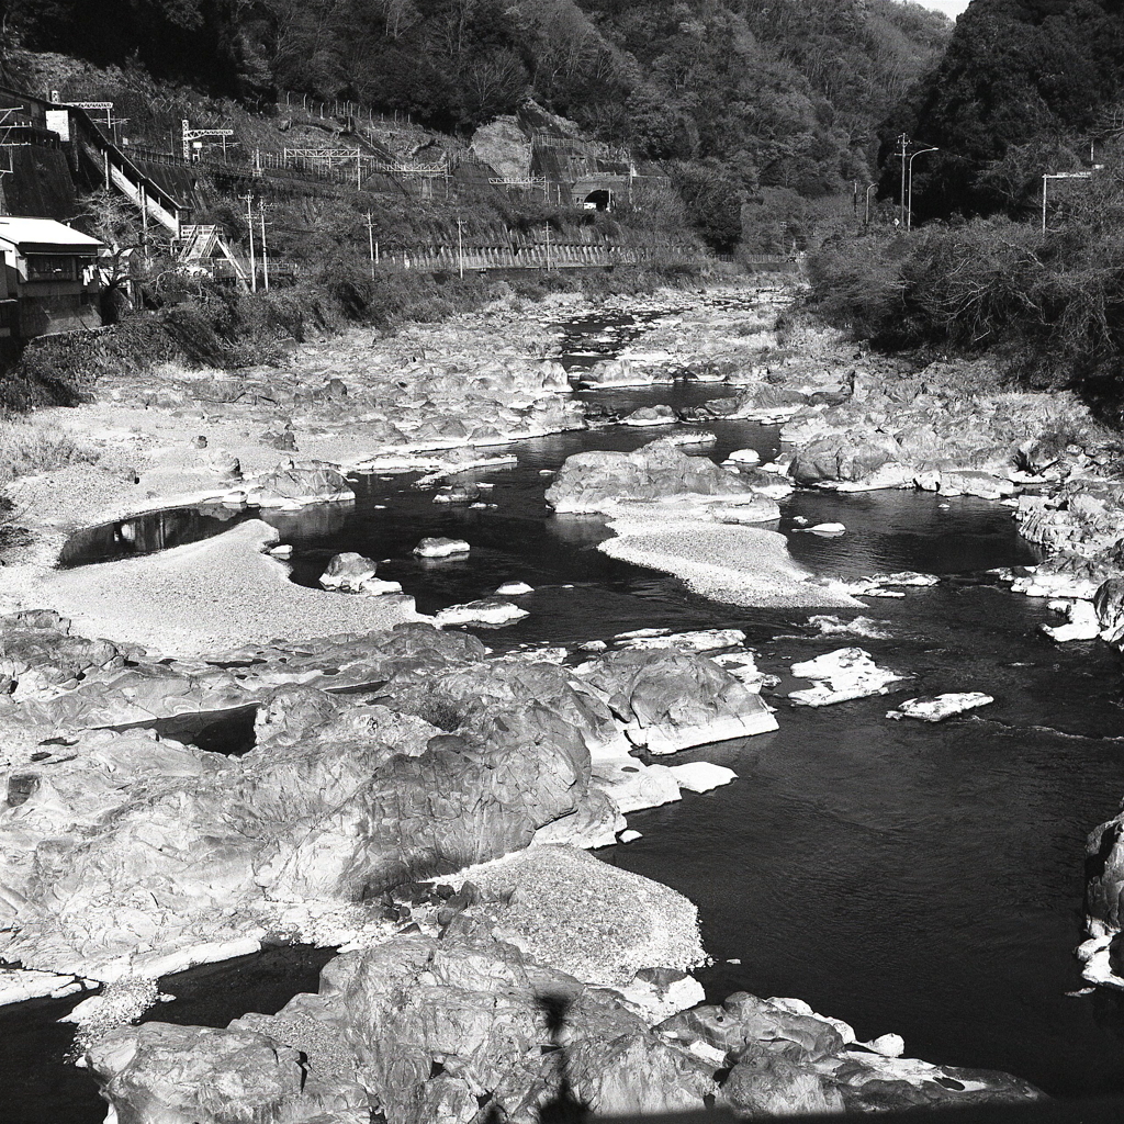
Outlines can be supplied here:
<path id="1" fill-rule="evenodd" d="M 225 1030 L 121 1027 L 88 1063 L 130 1124 L 375 1112 L 388 1124 L 532 1124 L 579 1099 L 613 1113 L 701 1107 L 714 1094 L 713 1067 L 661 1041 L 619 996 L 477 928 L 344 953 L 318 995 Z"/>

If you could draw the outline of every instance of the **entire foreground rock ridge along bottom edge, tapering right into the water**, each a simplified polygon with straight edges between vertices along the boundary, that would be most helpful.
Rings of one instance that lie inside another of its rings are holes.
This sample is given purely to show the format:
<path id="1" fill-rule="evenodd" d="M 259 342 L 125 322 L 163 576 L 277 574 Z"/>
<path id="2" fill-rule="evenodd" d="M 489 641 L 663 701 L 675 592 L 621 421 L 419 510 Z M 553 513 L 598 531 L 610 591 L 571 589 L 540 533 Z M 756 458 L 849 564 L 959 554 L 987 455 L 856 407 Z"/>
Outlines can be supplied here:
<path id="1" fill-rule="evenodd" d="M 627 988 L 591 987 L 497 940 L 506 908 L 484 900 L 439 937 L 344 953 L 317 995 L 274 1016 L 118 1028 L 89 1063 L 130 1124 L 359 1122 L 372 1109 L 388 1124 L 533 1124 L 566 1105 L 611 1116 L 718 1100 L 760 1116 L 1039 1096 L 1007 1075 L 883 1057 L 798 1000 L 743 992 L 653 1026 Z M 640 975 L 667 986 L 680 973 Z"/>

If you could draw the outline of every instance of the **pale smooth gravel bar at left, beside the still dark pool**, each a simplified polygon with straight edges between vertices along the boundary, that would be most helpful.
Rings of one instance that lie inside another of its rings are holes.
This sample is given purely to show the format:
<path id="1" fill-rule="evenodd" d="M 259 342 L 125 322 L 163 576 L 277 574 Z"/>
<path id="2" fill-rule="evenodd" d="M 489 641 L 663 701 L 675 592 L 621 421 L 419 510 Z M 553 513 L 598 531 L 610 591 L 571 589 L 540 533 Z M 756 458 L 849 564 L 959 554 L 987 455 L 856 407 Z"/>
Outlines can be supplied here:
<path id="1" fill-rule="evenodd" d="M 19 600 L 70 617 L 75 632 L 165 654 L 364 633 L 417 620 L 413 598 L 357 597 L 296 586 L 262 553 L 277 532 L 256 519 L 160 554 L 29 575 Z M 17 568 L 12 568 L 15 570 Z"/>

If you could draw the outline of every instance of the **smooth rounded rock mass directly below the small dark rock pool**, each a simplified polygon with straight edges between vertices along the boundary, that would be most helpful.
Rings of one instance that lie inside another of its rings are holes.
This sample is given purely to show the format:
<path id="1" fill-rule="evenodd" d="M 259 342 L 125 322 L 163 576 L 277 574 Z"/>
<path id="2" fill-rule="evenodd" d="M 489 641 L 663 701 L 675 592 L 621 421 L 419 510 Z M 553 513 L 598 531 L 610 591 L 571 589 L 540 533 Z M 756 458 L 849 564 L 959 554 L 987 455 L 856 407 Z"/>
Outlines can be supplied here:
<path id="1" fill-rule="evenodd" d="M 310 715 L 315 736 L 224 758 L 152 734 L 87 735 L 4 777 L 19 794 L 0 814 L 6 953 L 58 963 L 71 945 L 88 975 L 139 970 L 145 949 L 190 940 L 196 915 L 364 900 L 524 847 L 588 786 L 581 736 L 535 703 L 479 707 L 447 732 L 400 728 L 384 707 L 293 718 L 291 699 L 279 705 L 271 726 L 307 728 Z"/>

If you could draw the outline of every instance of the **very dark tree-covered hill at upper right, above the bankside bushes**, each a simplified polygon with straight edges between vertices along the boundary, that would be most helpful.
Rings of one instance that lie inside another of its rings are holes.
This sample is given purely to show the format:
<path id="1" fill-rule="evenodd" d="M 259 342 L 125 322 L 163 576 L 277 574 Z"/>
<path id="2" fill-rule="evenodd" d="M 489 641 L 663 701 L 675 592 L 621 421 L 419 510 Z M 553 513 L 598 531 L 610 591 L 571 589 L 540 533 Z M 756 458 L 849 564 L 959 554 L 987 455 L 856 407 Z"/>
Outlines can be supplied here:
<path id="1" fill-rule="evenodd" d="M 916 165 L 915 217 L 1035 206 L 1043 172 L 1087 166 L 1124 132 L 1124 2 L 975 0 L 883 130 L 888 192 L 901 129 L 941 148 Z"/>

